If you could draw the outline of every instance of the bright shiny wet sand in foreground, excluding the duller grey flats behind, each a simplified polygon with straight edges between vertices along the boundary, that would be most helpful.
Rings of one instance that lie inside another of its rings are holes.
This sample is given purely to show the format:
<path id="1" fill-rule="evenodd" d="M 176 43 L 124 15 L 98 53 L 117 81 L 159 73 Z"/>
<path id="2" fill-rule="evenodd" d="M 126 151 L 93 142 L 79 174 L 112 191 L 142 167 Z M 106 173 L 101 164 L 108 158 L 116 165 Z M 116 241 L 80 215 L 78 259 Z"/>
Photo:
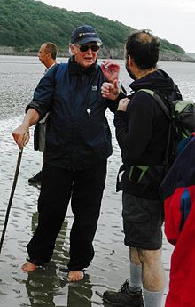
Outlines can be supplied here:
<path id="1" fill-rule="evenodd" d="M 11 133 L 12 129 L 20 124 L 21 118 L 0 121 L 1 231 L 18 158 L 18 148 Z M 112 117 L 110 122 L 113 125 Z M 29 274 L 23 273 L 20 266 L 25 262 L 26 245 L 37 224 L 36 202 L 39 195 L 39 189 L 29 185 L 27 179 L 38 172 L 42 166 L 42 154 L 33 150 L 33 138 L 31 138 L 23 151 L 19 179 L 12 201 L 2 254 L 0 254 L 1 307 L 104 306 L 102 293 L 109 288 L 119 288 L 121 283 L 129 277 L 129 251 L 123 245 L 121 193 L 115 192 L 116 174 L 120 165 L 120 151 L 113 137 L 113 156 L 109 158 L 105 194 L 94 240 L 96 255 L 86 270 L 84 279 L 78 283 L 66 282 L 69 231 L 73 222 L 71 210 L 68 211 L 58 235 L 51 263 Z M 167 280 L 172 249 L 173 247 L 164 238 L 163 263 Z"/>

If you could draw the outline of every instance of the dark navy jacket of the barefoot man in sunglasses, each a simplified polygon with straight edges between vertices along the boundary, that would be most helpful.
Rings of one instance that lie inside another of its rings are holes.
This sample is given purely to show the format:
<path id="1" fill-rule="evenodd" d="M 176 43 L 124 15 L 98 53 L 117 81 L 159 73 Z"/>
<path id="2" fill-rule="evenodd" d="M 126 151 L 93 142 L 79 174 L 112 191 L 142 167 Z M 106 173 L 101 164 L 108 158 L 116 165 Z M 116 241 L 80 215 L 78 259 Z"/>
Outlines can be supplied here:
<path id="1" fill-rule="evenodd" d="M 101 95 L 105 77 L 101 68 L 82 69 L 74 59 L 55 79 L 57 67 L 40 80 L 27 109 L 35 109 L 40 119 L 50 112 L 44 151 L 45 163 L 66 169 L 82 170 L 112 154 L 111 132 L 105 117 L 116 101 Z"/>

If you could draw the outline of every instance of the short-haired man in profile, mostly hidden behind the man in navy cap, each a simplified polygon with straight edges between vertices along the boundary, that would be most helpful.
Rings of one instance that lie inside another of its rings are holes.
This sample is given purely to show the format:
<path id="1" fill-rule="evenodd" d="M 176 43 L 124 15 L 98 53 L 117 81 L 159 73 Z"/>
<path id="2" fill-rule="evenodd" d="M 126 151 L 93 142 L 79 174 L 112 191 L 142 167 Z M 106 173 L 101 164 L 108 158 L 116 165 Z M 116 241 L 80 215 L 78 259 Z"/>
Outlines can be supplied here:
<path id="1" fill-rule="evenodd" d="M 49 69 L 51 69 L 52 66 L 56 65 L 56 57 L 57 57 L 57 46 L 56 44 L 53 44 L 51 42 L 43 43 L 39 49 L 38 52 L 39 60 L 44 64 L 46 67 L 45 72 L 46 73 Z M 34 134 L 34 149 L 40 152 L 44 151 L 44 145 L 45 145 L 45 126 L 46 126 L 46 119 L 47 115 L 43 117 L 42 120 L 40 120 L 35 125 L 35 134 Z M 32 184 L 41 184 L 42 182 L 42 171 L 39 171 L 37 174 L 35 174 L 33 177 L 28 179 L 29 183 Z"/>

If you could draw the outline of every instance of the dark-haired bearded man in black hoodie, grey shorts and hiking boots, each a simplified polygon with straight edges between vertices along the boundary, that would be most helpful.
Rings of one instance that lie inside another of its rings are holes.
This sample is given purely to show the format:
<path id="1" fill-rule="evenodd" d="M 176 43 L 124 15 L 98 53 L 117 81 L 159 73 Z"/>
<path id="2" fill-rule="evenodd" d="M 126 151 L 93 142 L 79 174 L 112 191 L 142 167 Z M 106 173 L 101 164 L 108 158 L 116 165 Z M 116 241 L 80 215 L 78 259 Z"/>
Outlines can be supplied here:
<path id="1" fill-rule="evenodd" d="M 169 120 L 150 93 L 174 101 L 180 93 L 166 72 L 157 69 L 160 42 L 150 31 L 137 31 L 125 44 L 126 69 L 135 81 L 133 94 L 121 99 L 114 116 L 124 172 L 121 176 L 124 243 L 129 246 L 130 278 L 121 290 L 105 291 L 103 300 L 114 306 L 160 307 L 165 287 L 161 261 L 163 203 L 159 185 L 168 146 Z M 104 83 L 103 97 L 119 99 L 117 82 Z M 144 291 L 144 302 L 142 298 Z"/>

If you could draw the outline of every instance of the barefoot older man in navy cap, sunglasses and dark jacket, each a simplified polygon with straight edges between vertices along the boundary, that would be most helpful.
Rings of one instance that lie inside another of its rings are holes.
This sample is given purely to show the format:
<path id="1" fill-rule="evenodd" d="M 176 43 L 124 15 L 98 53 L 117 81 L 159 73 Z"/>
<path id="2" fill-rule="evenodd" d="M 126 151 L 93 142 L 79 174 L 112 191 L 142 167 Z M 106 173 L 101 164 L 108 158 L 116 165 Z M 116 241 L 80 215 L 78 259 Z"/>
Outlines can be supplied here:
<path id="1" fill-rule="evenodd" d="M 110 61 L 105 61 L 104 69 L 98 65 L 101 44 L 95 28 L 89 25 L 75 28 L 68 63 L 60 74 L 58 64 L 45 74 L 27 106 L 22 124 L 12 133 L 21 148 L 29 127 L 50 112 L 38 226 L 27 244 L 28 258 L 23 271 L 34 271 L 51 260 L 69 203 L 74 222 L 67 279 L 82 279 L 83 269 L 94 257 L 92 242 L 105 189 L 107 158 L 112 154 L 105 111 L 109 108 L 115 112 L 118 104 L 102 97 L 101 85 L 106 80 L 117 82 L 119 75 L 119 66 Z"/>

